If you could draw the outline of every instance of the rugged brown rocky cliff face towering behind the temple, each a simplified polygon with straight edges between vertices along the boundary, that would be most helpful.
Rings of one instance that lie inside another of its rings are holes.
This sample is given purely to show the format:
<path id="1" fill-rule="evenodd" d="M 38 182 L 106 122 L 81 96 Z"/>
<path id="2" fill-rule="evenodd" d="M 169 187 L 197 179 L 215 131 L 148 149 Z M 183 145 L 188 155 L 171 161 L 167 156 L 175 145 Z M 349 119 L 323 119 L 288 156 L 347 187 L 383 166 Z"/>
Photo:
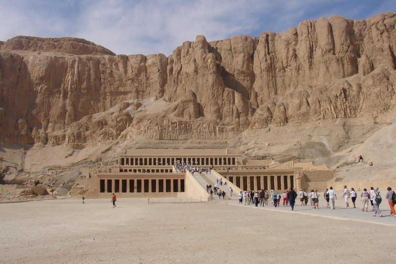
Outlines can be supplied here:
<path id="1" fill-rule="evenodd" d="M 0 142 L 227 139 L 306 122 L 387 122 L 395 26 L 396 13 L 332 16 L 258 38 L 197 36 L 168 57 L 15 37 L 0 42 Z"/>

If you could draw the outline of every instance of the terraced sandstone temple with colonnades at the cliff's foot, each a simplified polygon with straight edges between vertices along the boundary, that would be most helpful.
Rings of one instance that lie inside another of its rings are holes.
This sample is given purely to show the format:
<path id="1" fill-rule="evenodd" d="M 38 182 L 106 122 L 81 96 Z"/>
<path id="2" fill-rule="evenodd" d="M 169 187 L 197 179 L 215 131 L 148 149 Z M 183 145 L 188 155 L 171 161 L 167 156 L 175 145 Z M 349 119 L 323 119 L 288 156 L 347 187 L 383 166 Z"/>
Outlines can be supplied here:
<path id="1" fill-rule="evenodd" d="M 119 197 L 199 197 L 209 199 L 206 184 L 214 186 L 222 179 L 221 189 L 233 192 L 308 188 L 314 181 L 306 173 L 312 163 L 297 160 L 246 159 L 229 150 L 218 149 L 128 149 L 117 165 L 84 166 L 82 185 L 88 198 Z M 321 166 L 325 177 L 333 175 Z M 323 180 L 319 179 L 319 180 Z"/>

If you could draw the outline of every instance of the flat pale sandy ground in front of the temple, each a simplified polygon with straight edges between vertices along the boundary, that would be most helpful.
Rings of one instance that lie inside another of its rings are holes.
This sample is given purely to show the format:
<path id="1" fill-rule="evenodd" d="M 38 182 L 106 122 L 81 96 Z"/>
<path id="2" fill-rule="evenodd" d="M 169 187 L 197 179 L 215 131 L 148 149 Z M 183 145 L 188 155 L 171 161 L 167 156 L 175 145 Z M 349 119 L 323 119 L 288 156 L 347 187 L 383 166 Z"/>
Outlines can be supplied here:
<path id="1" fill-rule="evenodd" d="M 109 199 L 0 204 L 0 263 L 396 261 L 396 226 L 282 210 L 146 199 L 115 209 Z"/>

